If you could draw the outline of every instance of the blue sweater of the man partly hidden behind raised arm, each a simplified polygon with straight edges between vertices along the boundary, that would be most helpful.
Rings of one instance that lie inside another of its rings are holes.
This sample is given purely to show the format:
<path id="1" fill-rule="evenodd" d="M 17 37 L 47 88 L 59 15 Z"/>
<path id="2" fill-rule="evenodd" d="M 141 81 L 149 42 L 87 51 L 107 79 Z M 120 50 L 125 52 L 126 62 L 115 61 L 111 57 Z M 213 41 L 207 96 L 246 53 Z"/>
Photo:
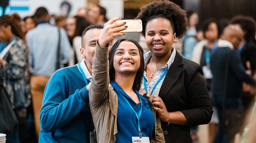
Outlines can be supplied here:
<path id="1" fill-rule="evenodd" d="M 93 130 L 88 99 L 76 65 L 57 70 L 44 90 L 39 142 L 88 143 Z"/>

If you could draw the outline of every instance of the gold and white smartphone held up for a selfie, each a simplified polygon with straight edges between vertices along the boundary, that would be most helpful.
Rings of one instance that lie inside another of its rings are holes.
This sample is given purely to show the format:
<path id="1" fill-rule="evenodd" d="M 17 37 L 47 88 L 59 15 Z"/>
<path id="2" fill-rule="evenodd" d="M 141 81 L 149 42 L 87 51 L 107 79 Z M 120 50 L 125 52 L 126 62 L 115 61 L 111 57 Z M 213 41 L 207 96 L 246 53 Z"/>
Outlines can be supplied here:
<path id="1" fill-rule="evenodd" d="M 115 23 L 126 22 L 127 29 L 120 32 L 142 32 L 142 21 L 140 19 L 117 20 Z"/>

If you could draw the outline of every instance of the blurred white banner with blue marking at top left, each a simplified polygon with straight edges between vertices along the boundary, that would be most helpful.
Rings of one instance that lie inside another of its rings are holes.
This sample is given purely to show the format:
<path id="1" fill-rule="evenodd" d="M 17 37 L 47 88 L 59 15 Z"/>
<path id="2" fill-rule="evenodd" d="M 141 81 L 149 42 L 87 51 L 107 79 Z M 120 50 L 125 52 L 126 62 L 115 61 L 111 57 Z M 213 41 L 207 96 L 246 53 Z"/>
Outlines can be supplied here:
<path id="1" fill-rule="evenodd" d="M 86 3 L 87 0 L 9 0 L 9 6 L 4 11 L 0 7 L 0 14 L 18 13 L 24 18 L 32 16 L 38 7 L 45 7 L 50 15 L 73 16 Z"/>

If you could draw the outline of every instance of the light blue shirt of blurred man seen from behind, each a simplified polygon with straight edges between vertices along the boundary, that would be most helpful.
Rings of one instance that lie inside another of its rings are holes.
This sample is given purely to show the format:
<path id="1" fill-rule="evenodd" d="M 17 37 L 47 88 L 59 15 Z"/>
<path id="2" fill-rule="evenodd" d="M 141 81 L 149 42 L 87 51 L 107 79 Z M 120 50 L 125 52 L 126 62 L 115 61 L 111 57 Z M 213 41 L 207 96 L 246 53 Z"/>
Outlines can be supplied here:
<path id="1" fill-rule="evenodd" d="M 56 71 L 58 27 L 49 23 L 38 24 L 26 34 L 29 48 L 29 66 L 33 74 L 51 76 Z M 73 51 L 64 29 L 60 29 L 60 61 L 73 57 Z M 63 64 L 60 65 L 64 67 Z"/>

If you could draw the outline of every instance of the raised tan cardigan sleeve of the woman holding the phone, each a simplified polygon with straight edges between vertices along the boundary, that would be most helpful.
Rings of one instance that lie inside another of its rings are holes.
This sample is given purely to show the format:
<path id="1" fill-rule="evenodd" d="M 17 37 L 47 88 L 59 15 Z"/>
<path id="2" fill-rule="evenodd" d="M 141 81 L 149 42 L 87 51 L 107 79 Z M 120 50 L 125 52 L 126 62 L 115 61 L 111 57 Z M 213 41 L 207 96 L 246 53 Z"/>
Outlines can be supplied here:
<path id="1" fill-rule="evenodd" d="M 97 41 L 92 61 L 92 79 L 89 89 L 89 104 L 91 108 L 98 108 L 108 101 L 108 68 L 108 47 L 100 47 Z"/>

